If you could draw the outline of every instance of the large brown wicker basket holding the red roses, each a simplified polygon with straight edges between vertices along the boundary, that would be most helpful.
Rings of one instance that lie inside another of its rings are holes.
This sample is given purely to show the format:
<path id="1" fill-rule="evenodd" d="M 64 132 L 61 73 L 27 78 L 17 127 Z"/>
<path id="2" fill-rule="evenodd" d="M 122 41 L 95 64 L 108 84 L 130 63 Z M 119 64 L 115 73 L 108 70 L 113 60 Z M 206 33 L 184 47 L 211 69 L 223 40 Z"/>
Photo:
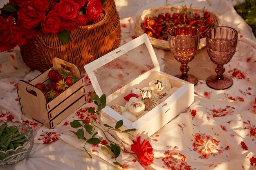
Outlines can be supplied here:
<path id="1" fill-rule="evenodd" d="M 27 40 L 27 44 L 20 46 L 23 61 L 32 70 L 45 72 L 52 67 L 52 59 L 59 57 L 84 70 L 84 65 L 116 49 L 121 42 L 115 1 L 106 0 L 102 11 L 95 24 L 76 26 L 65 44 L 58 39 L 58 34 L 38 35 Z"/>

